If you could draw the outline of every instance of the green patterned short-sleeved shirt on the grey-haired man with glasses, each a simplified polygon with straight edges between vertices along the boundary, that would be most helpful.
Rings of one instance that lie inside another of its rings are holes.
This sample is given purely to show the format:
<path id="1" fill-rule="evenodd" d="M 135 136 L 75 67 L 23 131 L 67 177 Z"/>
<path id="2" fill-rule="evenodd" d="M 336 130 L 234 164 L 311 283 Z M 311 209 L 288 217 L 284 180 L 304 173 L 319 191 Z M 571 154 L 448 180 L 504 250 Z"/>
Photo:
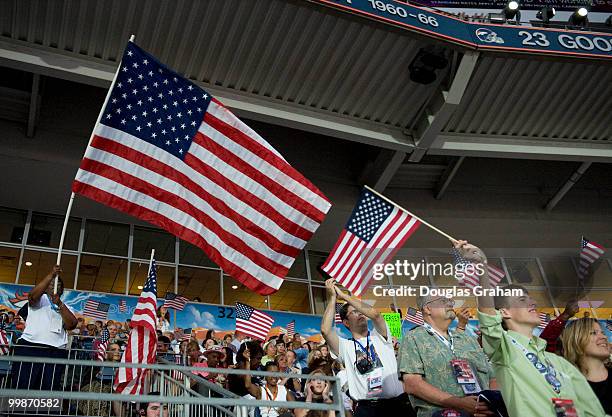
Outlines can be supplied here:
<path id="1" fill-rule="evenodd" d="M 493 369 L 478 345 L 476 338 L 464 332 L 452 333 L 453 349 L 438 340 L 438 336 L 419 326 L 406 332 L 398 354 L 398 373 L 422 375 L 434 387 L 457 397 L 463 397 L 463 389 L 457 382 L 451 367 L 452 359 L 465 359 L 471 365 L 483 390 L 489 389 Z M 453 354 L 454 351 L 454 354 Z M 418 417 L 429 417 L 441 408 L 410 395 L 410 402 Z"/>

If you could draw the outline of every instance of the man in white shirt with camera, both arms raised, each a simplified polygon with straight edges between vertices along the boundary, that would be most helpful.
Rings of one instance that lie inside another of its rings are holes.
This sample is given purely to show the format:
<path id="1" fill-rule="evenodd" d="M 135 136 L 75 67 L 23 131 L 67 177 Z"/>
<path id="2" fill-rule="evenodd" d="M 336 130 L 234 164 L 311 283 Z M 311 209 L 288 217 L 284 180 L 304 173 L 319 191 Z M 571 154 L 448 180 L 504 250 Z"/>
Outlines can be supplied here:
<path id="1" fill-rule="evenodd" d="M 332 352 L 344 362 L 348 393 L 356 403 L 355 417 L 414 416 L 397 379 L 393 340 L 383 317 L 371 306 L 340 291 L 333 279 L 325 281 L 325 286 L 328 299 L 321 333 Z M 336 299 L 345 301 L 339 314 L 352 334 L 350 339 L 339 337 L 332 329 Z M 372 320 L 372 330 L 368 329 L 368 319 Z"/>

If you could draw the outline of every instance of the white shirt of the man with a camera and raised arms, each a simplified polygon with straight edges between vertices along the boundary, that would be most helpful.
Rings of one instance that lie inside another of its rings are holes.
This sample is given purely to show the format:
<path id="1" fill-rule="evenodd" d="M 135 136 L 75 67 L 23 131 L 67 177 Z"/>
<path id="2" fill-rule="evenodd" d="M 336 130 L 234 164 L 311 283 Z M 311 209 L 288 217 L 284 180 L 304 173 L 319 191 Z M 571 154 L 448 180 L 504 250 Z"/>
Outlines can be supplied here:
<path id="1" fill-rule="evenodd" d="M 367 375 L 361 375 L 355 367 L 355 350 L 360 349 L 359 345 L 352 339 L 342 337 L 338 337 L 338 339 L 340 342 L 338 356 L 344 361 L 351 398 L 354 400 L 371 399 L 368 397 L 368 377 Z M 357 341 L 364 347 L 367 345 L 367 338 L 365 337 Z M 382 391 L 375 398 L 394 398 L 401 395 L 404 388 L 397 378 L 397 359 L 395 358 L 389 325 L 387 325 L 387 339 L 382 337 L 376 331 L 376 328 L 370 331 L 370 345 L 374 347 L 376 356 L 378 356 L 375 367 L 382 368 Z"/>

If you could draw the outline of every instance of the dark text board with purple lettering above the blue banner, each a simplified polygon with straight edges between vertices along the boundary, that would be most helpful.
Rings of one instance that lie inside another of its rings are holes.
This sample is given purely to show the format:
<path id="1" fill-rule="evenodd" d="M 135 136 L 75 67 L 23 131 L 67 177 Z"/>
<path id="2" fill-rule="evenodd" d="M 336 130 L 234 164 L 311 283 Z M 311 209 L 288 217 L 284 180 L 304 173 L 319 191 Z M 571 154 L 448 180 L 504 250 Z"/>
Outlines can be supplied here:
<path id="1" fill-rule="evenodd" d="M 496 9 L 502 10 L 507 0 L 411 0 L 422 6 L 444 9 Z M 404 2 L 402 2 L 404 3 Z M 590 6 L 594 13 L 611 13 L 612 0 L 523 0 L 519 2 L 522 10 L 540 10 L 544 6 L 554 7 L 557 11 L 574 11 L 580 6 Z M 592 3 L 592 5 L 591 5 Z"/>

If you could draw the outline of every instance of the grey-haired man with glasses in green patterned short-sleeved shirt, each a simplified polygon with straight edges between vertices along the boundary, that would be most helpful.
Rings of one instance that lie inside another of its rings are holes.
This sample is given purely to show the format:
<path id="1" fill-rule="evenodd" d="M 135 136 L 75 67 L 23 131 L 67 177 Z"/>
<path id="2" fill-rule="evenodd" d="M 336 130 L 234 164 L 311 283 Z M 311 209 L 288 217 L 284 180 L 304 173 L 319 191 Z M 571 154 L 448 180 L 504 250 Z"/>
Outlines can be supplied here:
<path id="1" fill-rule="evenodd" d="M 423 326 L 407 332 L 398 355 L 398 372 L 418 417 L 443 410 L 491 416 L 478 393 L 494 384 L 493 371 L 476 339 L 451 332 L 455 319 L 451 298 L 420 296 Z M 442 414 L 444 415 L 444 414 Z"/>

